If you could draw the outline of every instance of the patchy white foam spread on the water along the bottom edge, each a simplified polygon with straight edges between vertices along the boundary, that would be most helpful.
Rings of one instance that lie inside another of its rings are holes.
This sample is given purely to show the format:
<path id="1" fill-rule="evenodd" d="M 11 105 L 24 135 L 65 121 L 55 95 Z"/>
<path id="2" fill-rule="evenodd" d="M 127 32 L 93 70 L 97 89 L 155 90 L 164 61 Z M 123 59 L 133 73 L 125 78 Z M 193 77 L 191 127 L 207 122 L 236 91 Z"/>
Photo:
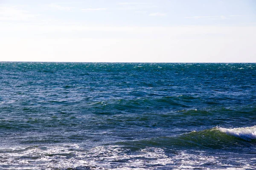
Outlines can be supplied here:
<path id="1" fill-rule="evenodd" d="M 32 159 L 33 158 L 33 159 Z M 224 158 L 226 159 L 226 157 Z M 252 169 L 254 160 L 238 160 L 237 170 Z M 0 149 L 0 168 L 6 170 L 36 170 L 36 169 L 67 169 L 87 167 L 93 170 L 150 170 L 169 169 L 190 170 L 206 169 L 204 164 L 213 163 L 221 170 L 233 168 L 232 165 L 222 164 L 221 158 L 207 156 L 207 153 L 177 152 L 166 155 L 163 148 L 147 147 L 131 151 L 123 146 L 98 146 L 84 150 L 77 144 L 55 146 L 32 146 L 12 149 Z"/>

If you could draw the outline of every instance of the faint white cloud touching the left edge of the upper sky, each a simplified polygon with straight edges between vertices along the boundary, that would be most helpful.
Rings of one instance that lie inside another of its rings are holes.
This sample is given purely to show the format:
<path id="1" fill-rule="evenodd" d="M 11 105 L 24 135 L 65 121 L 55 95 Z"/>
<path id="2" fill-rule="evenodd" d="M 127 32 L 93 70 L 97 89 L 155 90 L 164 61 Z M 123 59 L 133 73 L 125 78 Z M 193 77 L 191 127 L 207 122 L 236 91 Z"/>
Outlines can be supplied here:
<path id="1" fill-rule="evenodd" d="M 38 16 L 38 14 L 30 14 L 29 11 L 21 10 L 16 7 L 1 7 L 0 6 L 0 20 L 28 21 L 37 16 Z"/>

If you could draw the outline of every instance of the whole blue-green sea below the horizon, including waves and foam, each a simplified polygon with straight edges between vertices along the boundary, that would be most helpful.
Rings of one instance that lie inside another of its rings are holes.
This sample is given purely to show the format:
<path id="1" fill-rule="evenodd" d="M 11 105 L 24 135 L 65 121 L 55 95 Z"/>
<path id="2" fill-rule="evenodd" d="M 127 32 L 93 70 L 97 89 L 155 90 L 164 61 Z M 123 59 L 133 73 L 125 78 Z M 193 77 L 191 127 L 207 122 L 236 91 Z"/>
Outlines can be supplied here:
<path id="1" fill-rule="evenodd" d="M 0 169 L 255 170 L 255 63 L 0 62 Z"/>

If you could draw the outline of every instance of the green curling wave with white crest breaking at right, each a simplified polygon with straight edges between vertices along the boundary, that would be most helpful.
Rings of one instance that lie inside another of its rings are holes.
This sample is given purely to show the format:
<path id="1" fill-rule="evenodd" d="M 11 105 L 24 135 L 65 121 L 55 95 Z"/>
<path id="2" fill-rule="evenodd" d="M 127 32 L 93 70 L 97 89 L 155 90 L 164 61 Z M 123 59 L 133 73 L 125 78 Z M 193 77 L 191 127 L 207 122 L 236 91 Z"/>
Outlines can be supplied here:
<path id="1" fill-rule="evenodd" d="M 131 142 L 118 142 L 117 144 L 130 145 L 131 147 L 165 147 L 165 148 L 211 148 L 231 149 L 256 144 L 256 126 L 227 129 L 213 127 L 202 131 L 192 131 L 177 136 L 164 136 L 143 139 Z"/>

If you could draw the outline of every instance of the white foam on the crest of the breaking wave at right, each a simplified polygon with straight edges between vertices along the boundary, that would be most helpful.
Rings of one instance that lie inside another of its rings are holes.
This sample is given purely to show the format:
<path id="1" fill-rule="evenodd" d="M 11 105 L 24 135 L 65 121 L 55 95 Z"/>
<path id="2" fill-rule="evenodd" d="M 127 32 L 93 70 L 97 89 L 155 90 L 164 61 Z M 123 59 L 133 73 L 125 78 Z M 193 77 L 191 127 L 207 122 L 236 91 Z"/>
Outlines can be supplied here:
<path id="1" fill-rule="evenodd" d="M 217 127 L 221 132 L 233 135 L 245 140 L 256 139 L 256 126 L 252 127 L 239 127 L 233 129 L 227 129 L 223 127 Z"/>

